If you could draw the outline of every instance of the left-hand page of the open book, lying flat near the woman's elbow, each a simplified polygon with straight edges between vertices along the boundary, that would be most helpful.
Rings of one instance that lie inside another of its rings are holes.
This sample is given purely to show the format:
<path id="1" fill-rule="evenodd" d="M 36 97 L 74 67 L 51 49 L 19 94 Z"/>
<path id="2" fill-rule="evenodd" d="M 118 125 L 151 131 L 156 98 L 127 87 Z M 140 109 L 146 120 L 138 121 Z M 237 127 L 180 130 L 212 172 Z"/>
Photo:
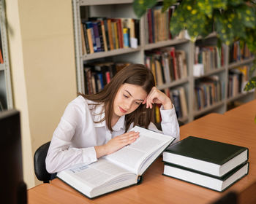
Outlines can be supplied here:
<path id="1" fill-rule="evenodd" d="M 90 190 L 108 184 L 113 178 L 118 178 L 122 175 L 135 176 L 134 173 L 101 158 L 90 165 L 76 165 L 75 168 L 61 171 L 57 176 L 64 181 L 70 178 L 72 181 L 68 181 L 69 184 L 79 186 L 78 183 L 80 183 Z"/>

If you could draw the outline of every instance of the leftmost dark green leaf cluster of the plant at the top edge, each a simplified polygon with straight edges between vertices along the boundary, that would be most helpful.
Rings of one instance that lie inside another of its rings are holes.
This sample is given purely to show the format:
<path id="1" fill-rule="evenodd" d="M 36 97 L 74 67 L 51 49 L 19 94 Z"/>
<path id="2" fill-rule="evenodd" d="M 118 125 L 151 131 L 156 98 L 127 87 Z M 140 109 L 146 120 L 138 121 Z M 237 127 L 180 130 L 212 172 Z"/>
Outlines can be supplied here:
<path id="1" fill-rule="evenodd" d="M 157 0 L 134 0 L 132 6 L 135 15 L 140 18 L 146 13 L 147 9 L 154 7 L 155 4 L 157 4 Z"/>

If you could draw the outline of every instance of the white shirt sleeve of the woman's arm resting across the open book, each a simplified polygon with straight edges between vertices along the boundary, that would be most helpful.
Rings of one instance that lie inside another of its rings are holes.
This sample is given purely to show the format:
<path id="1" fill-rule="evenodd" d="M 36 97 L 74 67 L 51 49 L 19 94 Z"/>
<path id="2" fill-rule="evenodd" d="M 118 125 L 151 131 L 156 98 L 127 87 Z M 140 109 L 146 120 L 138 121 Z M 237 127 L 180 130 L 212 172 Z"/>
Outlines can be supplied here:
<path id="1" fill-rule="evenodd" d="M 97 161 L 94 146 L 81 149 L 70 146 L 76 128 L 80 122 L 86 119 L 82 118 L 86 117 L 86 114 L 83 114 L 85 110 L 72 102 L 65 109 L 61 121 L 53 133 L 45 160 L 46 169 L 49 173 L 56 173 L 82 162 L 89 164 Z"/>

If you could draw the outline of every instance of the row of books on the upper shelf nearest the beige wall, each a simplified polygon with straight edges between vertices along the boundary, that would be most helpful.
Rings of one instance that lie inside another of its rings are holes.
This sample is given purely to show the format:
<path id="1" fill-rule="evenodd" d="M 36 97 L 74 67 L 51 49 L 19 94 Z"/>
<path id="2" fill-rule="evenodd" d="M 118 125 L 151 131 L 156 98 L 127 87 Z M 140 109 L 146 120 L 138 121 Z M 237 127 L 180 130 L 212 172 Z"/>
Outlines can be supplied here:
<path id="1" fill-rule="evenodd" d="M 90 17 L 81 20 L 83 55 L 140 44 L 140 20 L 132 18 Z"/>

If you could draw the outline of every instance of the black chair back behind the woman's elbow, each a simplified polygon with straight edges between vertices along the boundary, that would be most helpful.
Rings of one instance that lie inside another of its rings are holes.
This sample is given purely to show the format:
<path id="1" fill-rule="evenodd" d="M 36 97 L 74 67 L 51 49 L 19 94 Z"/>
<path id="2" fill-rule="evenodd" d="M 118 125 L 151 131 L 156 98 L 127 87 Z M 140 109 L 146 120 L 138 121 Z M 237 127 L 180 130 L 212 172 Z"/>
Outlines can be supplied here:
<path id="1" fill-rule="evenodd" d="M 37 151 L 34 153 L 34 173 L 37 176 L 39 181 L 43 181 L 44 183 L 49 183 L 52 178 L 52 174 L 48 173 L 45 168 L 45 158 L 47 156 L 47 152 L 50 146 L 50 141 L 39 146 Z"/>

